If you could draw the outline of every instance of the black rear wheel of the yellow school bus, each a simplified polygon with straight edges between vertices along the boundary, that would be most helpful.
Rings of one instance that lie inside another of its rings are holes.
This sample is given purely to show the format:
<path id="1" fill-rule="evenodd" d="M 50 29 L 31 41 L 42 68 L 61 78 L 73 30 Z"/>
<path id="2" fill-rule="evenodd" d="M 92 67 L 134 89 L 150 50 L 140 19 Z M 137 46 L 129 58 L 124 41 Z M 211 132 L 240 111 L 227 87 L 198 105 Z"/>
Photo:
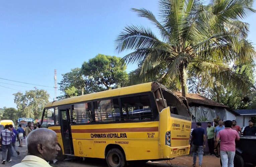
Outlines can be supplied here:
<path id="1" fill-rule="evenodd" d="M 117 148 L 112 148 L 107 152 L 106 160 L 109 167 L 124 167 L 126 165 L 123 153 Z"/>

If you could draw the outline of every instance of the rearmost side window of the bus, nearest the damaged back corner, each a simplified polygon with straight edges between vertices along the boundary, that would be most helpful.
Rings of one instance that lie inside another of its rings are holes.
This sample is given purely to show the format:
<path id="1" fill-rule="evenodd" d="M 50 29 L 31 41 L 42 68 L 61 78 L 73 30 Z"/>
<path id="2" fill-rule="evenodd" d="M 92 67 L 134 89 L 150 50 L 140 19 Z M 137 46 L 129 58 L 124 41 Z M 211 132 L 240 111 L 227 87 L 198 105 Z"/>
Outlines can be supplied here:
<path id="1" fill-rule="evenodd" d="M 153 113 L 148 95 L 121 98 L 124 120 L 151 120 Z"/>

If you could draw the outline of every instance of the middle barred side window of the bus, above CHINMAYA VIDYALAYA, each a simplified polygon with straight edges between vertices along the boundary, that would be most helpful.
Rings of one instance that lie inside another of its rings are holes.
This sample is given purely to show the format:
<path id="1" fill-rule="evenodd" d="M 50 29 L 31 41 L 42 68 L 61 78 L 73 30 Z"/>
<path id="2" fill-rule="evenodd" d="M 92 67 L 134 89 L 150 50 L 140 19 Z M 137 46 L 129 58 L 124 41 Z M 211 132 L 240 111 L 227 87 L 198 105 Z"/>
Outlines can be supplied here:
<path id="1" fill-rule="evenodd" d="M 121 121 L 118 99 L 93 102 L 96 122 Z"/>

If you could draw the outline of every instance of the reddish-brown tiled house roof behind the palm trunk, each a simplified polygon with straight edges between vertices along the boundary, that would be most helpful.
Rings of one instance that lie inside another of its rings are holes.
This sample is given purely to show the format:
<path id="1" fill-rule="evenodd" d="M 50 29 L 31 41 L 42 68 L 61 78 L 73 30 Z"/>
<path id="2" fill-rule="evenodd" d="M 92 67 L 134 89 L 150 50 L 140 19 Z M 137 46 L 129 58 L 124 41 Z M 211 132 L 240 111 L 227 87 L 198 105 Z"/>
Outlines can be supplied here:
<path id="1" fill-rule="evenodd" d="M 178 97 L 182 96 L 181 92 L 174 92 Z M 216 101 L 210 100 L 208 98 L 205 98 L 199 94 L 191 94 L 188 93 L 186 95 L 186 99 L 188 104 L 190 103 L 196 103 L 196 104 L 203 104 L 203 105 L 207 105 L 207 106 L 217 106 L 217 107 L 225 107 L 225 108 L 229 108 L 226 105 L 223 105 L 221 103 L 218 103 Z"/>

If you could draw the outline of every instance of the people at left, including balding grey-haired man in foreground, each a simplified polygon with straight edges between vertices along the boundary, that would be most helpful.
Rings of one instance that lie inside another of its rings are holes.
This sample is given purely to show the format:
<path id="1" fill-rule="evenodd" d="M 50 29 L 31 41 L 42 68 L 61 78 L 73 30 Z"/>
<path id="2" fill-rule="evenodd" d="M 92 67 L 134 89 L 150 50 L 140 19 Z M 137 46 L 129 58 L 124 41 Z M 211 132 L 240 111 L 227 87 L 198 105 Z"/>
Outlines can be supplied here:
<path id="1" fill-rule="evenodd" d="M 55 160 L 61 150 L 58 145 L 57 134 L 51 129 L 39 129 L 36 124 L 32 128 L 31 122 L 28 122 L 25 131 L 21 128 L 21 125 L 17 130 L 12 125 L 5 125 L 5 129 L 1 131 L 2 164 L 5 164 L 6 161 L 12 161 L 12 148 L 19 155 L 15 148 L 16 136 L 19 140 L 19 147 L 23 147 L 22 140 L 23 136 L 25 137 L 28 155 L 25 156 L 21 163 L 13 167 L 51 167 L 48 161 Z"/>

